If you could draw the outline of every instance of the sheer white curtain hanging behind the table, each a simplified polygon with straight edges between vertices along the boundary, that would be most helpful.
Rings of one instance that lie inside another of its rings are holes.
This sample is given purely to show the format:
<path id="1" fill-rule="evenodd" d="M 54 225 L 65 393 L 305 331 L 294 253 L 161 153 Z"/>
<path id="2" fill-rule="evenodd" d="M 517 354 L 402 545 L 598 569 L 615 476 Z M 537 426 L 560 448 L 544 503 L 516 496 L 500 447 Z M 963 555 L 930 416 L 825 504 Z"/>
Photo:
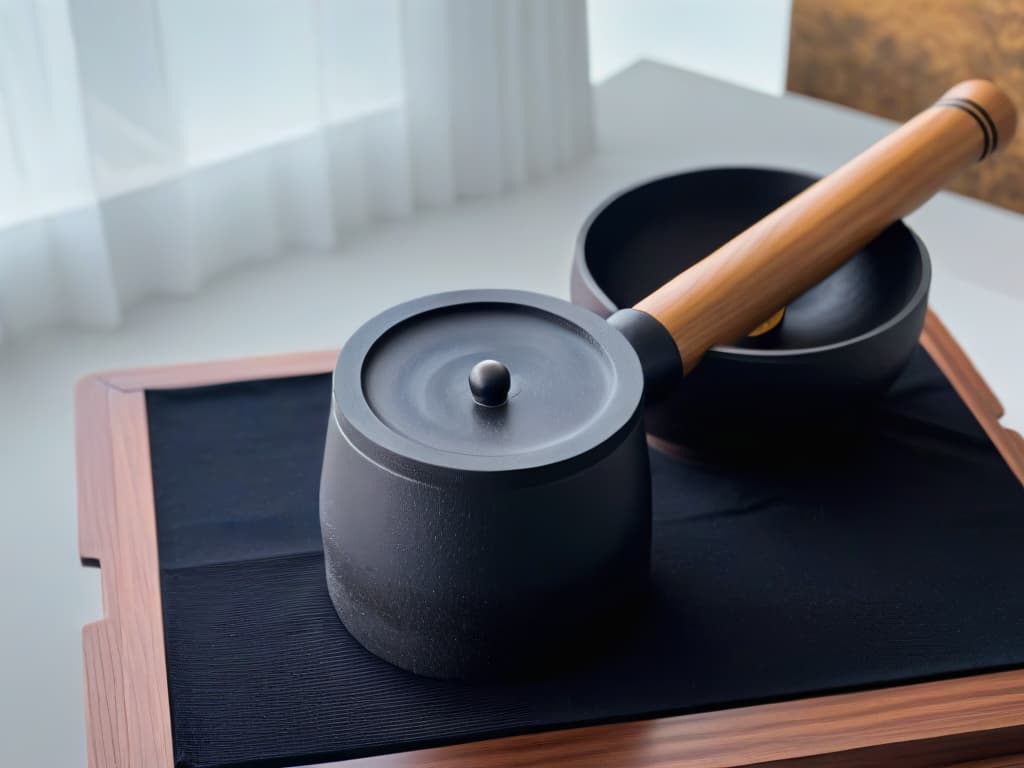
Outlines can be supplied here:
<path id="1" fill-rule="evenodd" d="M 543 177 L 590 97 L 585 0 L 0 0 L 0 341 Z"/>

